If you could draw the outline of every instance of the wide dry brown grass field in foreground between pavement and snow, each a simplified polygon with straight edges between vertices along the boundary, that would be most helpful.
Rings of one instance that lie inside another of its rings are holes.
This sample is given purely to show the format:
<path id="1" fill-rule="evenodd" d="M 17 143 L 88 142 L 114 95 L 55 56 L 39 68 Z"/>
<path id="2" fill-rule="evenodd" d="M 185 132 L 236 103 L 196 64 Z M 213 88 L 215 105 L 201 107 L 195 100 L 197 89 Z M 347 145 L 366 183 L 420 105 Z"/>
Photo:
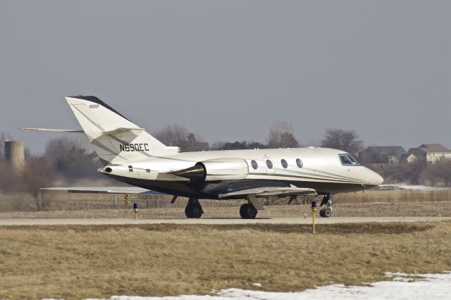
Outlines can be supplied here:
<path id="1" fill-rule="evenodd" d="M 297 291 L 451 270 L 451 223 L 0 227 L 0 298 Z M 262 287 L 252 283 L 260 282 Z"/>

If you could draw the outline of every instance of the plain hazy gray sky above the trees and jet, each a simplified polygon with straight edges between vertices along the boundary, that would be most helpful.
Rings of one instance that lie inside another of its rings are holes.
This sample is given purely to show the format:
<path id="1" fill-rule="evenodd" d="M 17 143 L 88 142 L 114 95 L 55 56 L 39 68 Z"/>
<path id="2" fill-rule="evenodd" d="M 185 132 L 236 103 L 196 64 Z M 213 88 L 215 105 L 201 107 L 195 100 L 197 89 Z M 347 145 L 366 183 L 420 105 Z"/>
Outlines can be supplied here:
<path id="1" fill-rule="evenodd" d="M 451 1 L 0 1 L 0 131 L 78 128 L 95 95 L 149 132 L 265 142 L 286 120 L 366 145 L 451 146 Z"/>

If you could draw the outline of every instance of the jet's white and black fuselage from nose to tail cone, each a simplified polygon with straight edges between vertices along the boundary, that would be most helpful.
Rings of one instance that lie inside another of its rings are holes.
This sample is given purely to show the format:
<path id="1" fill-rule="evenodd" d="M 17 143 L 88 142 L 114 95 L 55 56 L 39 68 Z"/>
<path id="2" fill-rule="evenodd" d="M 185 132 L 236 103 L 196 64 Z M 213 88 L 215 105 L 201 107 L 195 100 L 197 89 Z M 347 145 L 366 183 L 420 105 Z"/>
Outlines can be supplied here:
<path id="1" fill-rule="evenodd" d="M 230 170 L 237 173 L 230 180 L 192 180 L 173 174 L 197 163 L 221 159 L 242 161 L 243 167 L 238 173 Z M 106 165 L 100 172 L 145 189 L 202 199 L 218 199 L 218 194 L 254 187 L 295 186 L 315 189 L 318 194 L 338 194 L 362 191 L 383 182 L 380 175 L 359 165 L 346 152 L 313 147 L 150 156 L 127 165 Z"/>

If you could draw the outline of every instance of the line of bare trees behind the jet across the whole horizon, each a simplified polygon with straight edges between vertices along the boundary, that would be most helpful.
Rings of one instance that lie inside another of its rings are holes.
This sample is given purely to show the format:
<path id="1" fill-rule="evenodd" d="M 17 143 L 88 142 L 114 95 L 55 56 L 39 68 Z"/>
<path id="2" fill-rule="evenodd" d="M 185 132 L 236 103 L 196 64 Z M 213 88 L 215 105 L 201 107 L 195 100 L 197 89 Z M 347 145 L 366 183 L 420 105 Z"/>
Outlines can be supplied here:
<path id="1" fill-rule="evenodd" d="M 205 142 L 198 134 L 179 124 L 169 124 L 152 132 L 168 146 L 179 146 L 180 151 L 202 151 Z M 6 163 L 4 142 L 10 136 L 0 133 L 0 192 L 28 192 L 36 200 L 38 210 L 47 209 L 39 188 L 54 185 L 57 180 L 66 184 L 82 178 L 104 179 L 97 172 L 101 163 L 92 151 L 85 135 L 68 135 L 51 139 L 44 154 L 32 155 L 25 150 L 26 168 L 22 175 L 13 175 Z M 265 142 L 215 142 L 209 150 L 296 148 L 302 144 L 296 139 L 289 123 L 276 122 L 269 126 Z M 328 129 L 319 144 L 321 147 L 340 149 L 358 158 L 363 142 L 354 130 Z M 385 182 L 451 186 L 451 161 L 438 163 L 369 164 L 366 167 L 381 174 Z M 6 175 L 7 174 L 7 175 Z"/>

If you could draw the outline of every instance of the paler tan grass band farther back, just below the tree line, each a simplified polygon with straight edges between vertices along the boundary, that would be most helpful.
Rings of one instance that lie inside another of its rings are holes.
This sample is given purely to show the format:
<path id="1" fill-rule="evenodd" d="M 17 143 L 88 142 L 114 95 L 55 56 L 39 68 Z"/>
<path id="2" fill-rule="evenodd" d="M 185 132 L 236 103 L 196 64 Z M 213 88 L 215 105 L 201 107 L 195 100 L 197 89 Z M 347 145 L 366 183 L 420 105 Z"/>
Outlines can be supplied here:
<path id="1" fill-rule="evenodd" d="M 171 204 L 170 195 L 129 195 L 128 205 L 123 201 L 123 195 L 116 197 L 113 205 L 113 195 L 111 194 L 68 194 L 66 192 L 46 192 L 45 198 L 49 200 L 49 211 L 101 211 L 130 208 L 132 202 L 140 204 L 140 208 L 185 208 L 187 199 L 180 197 L 175 204 Z M 309 204 L 309 199 L 295 200 L 293 204 Z M 337 204 L 412 204 L 416 202 L 430 203 L 436 205 L 439 202 L 451 203 L 451 189 L 438 191 L 409 191 L 409 190 L 368 190 L 364 193 L 338 194 L 334 197 Z M 261 199 L 266 206 L 279 206 L 288 204 L 288 199 Z M 321 201 L 321 196 L 316 197 L 316 201 Z M 214 201 L 202 200 L 204 207 L 230 207 L 240 206 L 244 201 Z M 276 205 L 274 205 L 276 204 Z M 35 211 L 35 200 L 26 193 L 0 194 L 1 212 L 26 212 Z"/>

